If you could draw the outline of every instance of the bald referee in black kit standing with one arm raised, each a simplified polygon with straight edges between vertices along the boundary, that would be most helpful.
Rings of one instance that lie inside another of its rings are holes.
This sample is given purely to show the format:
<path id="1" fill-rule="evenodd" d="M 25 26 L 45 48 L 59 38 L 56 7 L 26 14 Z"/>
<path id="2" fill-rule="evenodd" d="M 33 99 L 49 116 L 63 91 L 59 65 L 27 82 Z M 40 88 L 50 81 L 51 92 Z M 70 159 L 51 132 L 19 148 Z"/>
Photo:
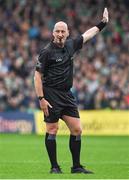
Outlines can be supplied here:
<path id="1" fill-rule="evenodd" d="M 53 29 L 53 40 L 39 54 L 34 85 L 40 108 L 44 112 L 45 146 L 51 163 L 50 173 L 62 173 L 56 151 L 59 118 L 70 131 L 69 148 L 73 163 L 71 173 L 93 173 L 80 163 L 82 129 L 77 104 L 70 90 L 73 82 L 73 55 L 99 33 L 107 22 L 108 10 L 105 8 L 102 21 L 75 39 L 67 39 L 67 24 L 57 22 Z"/>

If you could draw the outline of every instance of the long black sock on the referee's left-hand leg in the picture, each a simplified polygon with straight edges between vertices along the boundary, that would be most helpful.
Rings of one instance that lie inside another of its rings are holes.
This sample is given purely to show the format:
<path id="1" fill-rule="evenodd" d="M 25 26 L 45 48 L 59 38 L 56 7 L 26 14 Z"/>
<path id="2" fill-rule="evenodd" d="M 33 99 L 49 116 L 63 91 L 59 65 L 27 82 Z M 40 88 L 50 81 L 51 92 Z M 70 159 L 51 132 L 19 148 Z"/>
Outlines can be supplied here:
<path id="1" fill-rule="evenodd" d="M 58 167 L 56 155 L 56 135 L 46 133 L 45 145 L 52 167 Z"/>

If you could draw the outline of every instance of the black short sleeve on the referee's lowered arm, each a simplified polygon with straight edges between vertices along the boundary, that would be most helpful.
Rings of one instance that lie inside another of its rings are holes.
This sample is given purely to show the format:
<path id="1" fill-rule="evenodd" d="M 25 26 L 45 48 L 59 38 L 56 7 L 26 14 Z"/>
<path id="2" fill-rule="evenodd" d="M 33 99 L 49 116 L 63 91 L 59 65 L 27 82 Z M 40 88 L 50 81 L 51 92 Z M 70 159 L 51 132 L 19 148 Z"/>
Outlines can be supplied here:
<path id="1" fill-rule="evenodd" d="M 36 63 L 36 71 L 42 72 L 44 74 L 47 68 L 48 62 L 48 52 L 46 50 L 41 50 Z"/>

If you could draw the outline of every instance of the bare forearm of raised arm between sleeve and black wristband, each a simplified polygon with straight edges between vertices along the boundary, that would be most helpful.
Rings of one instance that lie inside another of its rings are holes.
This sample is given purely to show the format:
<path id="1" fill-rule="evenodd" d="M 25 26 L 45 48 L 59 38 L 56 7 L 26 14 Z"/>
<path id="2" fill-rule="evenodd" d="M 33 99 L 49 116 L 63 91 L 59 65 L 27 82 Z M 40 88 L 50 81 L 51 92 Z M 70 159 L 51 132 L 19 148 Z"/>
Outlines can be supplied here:
<path id="1" fill-rule="evenodd" d="M 98 33 L 99 33 L 99 28 L 97 26 L 94 26 L 93 28 L 87 30 L 84 34 L 82 34 L 83 43 L 85 43 L 89 39 L 93 38 Z"/>

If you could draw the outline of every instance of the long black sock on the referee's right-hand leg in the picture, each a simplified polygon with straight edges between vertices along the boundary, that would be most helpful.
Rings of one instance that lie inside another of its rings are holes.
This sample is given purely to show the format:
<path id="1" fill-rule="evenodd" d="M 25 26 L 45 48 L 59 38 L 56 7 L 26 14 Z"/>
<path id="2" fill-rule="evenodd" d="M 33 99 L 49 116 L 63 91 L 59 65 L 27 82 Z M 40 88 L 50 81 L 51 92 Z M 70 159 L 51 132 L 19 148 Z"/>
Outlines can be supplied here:
<path id="1" fill-rule="evenodd" d="M 69 148 L 72 154 L 73 167 L 80 166 L 81 135 L 70 135 Z"/>

